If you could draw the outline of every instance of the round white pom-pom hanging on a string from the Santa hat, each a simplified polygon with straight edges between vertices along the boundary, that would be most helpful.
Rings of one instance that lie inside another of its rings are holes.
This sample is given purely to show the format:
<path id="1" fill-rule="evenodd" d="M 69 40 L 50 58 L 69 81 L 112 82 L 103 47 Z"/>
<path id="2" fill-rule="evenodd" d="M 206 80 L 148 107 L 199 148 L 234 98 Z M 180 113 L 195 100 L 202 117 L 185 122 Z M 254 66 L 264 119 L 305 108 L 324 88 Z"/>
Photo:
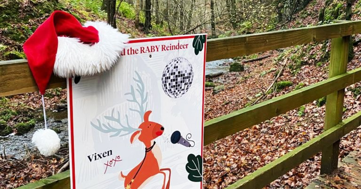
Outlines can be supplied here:
<path id="1" fill-rule="evenodd" d="M 60 148 L 60 138 L 51 129 L 39 129 L 32 135 L 32 143 L 43 156 L 52 156 Z"/>

